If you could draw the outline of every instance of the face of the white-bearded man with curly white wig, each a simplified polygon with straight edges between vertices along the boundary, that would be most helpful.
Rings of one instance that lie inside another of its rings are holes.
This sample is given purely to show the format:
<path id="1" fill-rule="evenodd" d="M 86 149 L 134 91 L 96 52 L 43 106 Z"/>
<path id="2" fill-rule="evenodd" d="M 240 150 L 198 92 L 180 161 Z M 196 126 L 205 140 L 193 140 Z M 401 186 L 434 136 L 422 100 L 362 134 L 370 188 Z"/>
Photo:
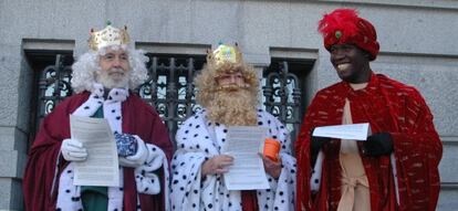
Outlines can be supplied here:
<path id="1" fill-rule="evenodd" d="M 106 88 L 124 88 L 127 86 L 131 64 L 126 51 L 108 49 L 104 55 L 100 56 L 98 64 L 101 72 L 97 81 Z"/>

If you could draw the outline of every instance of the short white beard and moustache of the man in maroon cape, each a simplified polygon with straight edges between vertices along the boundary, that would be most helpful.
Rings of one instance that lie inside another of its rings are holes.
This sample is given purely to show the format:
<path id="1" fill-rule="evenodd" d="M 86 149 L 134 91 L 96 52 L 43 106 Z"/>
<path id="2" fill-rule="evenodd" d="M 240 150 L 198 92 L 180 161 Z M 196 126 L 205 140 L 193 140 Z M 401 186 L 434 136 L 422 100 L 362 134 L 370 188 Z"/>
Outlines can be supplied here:
<path id="1" fill-rule="evenodd" d="M 110 71 L 100 71 L 96 81 L 105 88 L 125 88 L 128 86 L 129 78 L 131 71 L 111 68 Z"/>

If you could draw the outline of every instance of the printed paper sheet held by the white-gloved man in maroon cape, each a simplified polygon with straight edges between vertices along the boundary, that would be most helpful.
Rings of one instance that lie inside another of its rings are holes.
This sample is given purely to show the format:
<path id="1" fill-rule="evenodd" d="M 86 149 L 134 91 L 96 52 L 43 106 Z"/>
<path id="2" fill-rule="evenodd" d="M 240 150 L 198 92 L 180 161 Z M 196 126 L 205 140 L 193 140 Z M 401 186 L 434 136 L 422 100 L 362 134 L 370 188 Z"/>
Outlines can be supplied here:
<path id="1" fill-rule="evenodd" d="M 74 162 L 75 186 L 119 186 L 116 143 L 104 118 L 70 116 L 72 138 L 83 143 L 87 159 Z"/>

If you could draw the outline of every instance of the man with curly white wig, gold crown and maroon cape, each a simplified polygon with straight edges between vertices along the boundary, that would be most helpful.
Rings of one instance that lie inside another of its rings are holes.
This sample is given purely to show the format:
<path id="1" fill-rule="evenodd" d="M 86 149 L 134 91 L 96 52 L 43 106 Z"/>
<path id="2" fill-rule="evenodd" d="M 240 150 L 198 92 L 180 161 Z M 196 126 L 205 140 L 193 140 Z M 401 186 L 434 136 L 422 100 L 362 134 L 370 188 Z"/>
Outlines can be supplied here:
<path id="1" fill-rule="evenodd" d="M 157 113 L 132 89 L 147 78 L 142 51 L 125 29 L 91 32 L 91 51 L 73 64 L 75 95 L 41 123 L 30 150 L 23 189 L 27 210 L 168 210 L 173 145 Z M 85 146 L 70 135 L 70 115 L 105 118 L 116 140 L 119 187 L 74 186 Z"/>

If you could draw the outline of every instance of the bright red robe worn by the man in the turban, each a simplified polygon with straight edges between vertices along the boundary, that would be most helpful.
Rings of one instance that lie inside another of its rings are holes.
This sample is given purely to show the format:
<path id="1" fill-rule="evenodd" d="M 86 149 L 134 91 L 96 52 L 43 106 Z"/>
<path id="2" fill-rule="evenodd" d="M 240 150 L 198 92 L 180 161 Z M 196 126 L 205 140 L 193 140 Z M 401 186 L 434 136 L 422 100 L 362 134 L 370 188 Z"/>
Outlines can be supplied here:
<path id="1" fill-rule="evenodd" d="M 310 189 L 310 133 L 314 127 L 341 125 L 345 98 L 351 103 L 354 124 L 369 123 L 373 133 L 389 133 L 394 141 L 399 204 L 389 156 L 360 155 L 369 183 L 371 210 L 435 210 L 440 181 L 438 165 L 443 155 L 433 115 L 414 87 L 384 75 L 372 74 L 367 86 L 353 91 L 340 82 L 320 91 L 310 105 L 298 140 L 296 210 L 336 210 L 341 199 L 340 141 L 322 150 L 325 155 L 318 193 Z"/>

